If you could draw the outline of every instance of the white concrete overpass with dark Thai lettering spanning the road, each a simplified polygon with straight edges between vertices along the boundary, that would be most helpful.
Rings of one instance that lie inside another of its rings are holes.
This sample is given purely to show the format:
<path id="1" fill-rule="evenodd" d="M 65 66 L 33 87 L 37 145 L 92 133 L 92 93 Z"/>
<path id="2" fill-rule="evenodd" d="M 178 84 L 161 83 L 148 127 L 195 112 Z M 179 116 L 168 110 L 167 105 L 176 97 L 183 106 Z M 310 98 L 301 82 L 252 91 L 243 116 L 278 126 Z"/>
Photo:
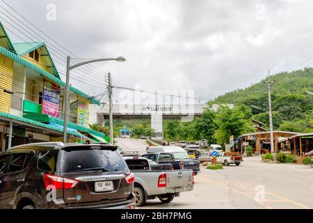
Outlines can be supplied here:
<path id="1" fill-rule="evenodd" d="M 234 107 L 232 104 L 227 104 Z M 113 119 L 151 119 L 151 128 L 155 130 L 157 139 L 163 139 L 163 119 L 181 119 L 183 122 L 193 121 L 193 118 L 201 116 L 205 104 L 192 105 L 113 105 Z M 212 109 L 218 109 L 214 104 Z M 89 123 L 104 124 L 109 119 L 109 105 L 90 105 Z"/>

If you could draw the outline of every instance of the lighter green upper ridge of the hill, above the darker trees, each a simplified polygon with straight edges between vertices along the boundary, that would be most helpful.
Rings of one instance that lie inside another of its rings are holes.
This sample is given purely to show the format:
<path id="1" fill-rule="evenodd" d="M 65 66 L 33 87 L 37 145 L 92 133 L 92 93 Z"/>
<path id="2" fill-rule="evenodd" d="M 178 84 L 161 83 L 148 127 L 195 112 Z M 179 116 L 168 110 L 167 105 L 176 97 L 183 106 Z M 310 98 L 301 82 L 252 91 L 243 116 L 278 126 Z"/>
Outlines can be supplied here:
<path id="1" fill-rule="evenodd" d="M 256 98 L 266 95 L 266 84 L 261 82 L 253 84 L 246 89 L 237 89 L 224 95 L 220 95 L 214 102 L 218 103 L 234 103 L 240 104 L 247 98 Z M 313 68 L 305 68 L 304 70 L 295 70 L 293 72 L 281 72 L 271 76 L 271 80 L 275 80 L 273 84 L 274 95 L 304 94 L 305 91 L 313 91 Z"/>

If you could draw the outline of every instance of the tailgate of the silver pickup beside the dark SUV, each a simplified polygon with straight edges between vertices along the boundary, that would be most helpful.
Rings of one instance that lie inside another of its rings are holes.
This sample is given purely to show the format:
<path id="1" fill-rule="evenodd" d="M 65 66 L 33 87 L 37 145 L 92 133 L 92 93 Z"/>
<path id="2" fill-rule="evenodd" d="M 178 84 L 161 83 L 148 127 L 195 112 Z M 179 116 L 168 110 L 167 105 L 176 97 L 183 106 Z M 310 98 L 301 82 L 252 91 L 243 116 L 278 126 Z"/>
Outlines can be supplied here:
<path id="1" fill-rule="evenodd" d="M 186 187 L 193 185 L 192 170 L 167 171 L 166 178 L 166 187 Z"/>

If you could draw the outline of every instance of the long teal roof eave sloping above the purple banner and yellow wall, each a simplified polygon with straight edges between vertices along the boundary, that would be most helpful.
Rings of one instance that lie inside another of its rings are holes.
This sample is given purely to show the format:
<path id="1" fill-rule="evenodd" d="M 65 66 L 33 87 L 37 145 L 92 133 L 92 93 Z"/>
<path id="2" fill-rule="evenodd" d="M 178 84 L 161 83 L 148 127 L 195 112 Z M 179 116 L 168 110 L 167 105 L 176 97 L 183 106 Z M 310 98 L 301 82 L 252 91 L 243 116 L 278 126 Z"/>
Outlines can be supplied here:
<path id="1" fill-rule="evenodd" d="M 33 63 L 26 61 L 25 59 L 22 58 L 22 56 L 18 56 L 17 54 L 10 52 L 8 51 L 8 49 L 5 49 L 3 47 L 0 47 L 0 54 L 7 56 L 8 58 L 12 59 L 16 63 L 21 64 L 22 66 L 25 66 L 26 68 L 29 68 L 35 72 L 38 72 L 40 75 L 46 77 L 47 79 L 50 79 L 52 82 L 55 82 L 56 84 L 60 85 L 62 88 L 65 88 L 65 82 L 63 82 L 61 79 L 58 79 L 58 77 L 51 75 L 49 72 L 43 70 L 42 68 L 39 68 L 38 66 L 33 65 Z M 90 103 L 100 105 L 99 100 L 97 100 L 96 98 L 90 97 L 86 93 L 83 93 L 82 91 L 79 91 L 78 89 L 75 89 L 72 86 L 70 86 L 70 91 L 72 91 L 73 93 L 76 93 L 77 95 L 81 95 L 83 98 L 88 98 Z"/>

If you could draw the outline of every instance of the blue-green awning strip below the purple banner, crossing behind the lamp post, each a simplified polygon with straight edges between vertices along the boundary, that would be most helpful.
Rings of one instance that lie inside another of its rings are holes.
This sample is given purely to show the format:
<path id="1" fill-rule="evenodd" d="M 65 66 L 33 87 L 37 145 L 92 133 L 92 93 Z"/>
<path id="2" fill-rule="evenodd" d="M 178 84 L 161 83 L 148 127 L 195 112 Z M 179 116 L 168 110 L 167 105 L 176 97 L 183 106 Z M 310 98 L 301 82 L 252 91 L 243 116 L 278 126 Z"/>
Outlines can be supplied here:
<path id="1" fill-rule="evenodd" d="M 34 121 L 38 121 L 40 123 L 56 123 L 58 125 L 64 125 L 64 121 L 60 118 L 56 118 L 54 116 L 49 116 L 47 114 L 24 114 L 24 118 L 29 118 Z M 86 132 L 90 134 L 95 134 L 97 137 L 102 137 L 103 139 L 106 138 L 106 135 L 103 134 L 102 132 L 97 132 L 96 130 L 92 130 L 90 128 L 87 128 L 86 126 L 83 125 L 78 125 L 75 123 L 68 122 L 67 126 L 69 128 L 74 128 L 75 130 L 79 130 L 81 132 Z"/>

